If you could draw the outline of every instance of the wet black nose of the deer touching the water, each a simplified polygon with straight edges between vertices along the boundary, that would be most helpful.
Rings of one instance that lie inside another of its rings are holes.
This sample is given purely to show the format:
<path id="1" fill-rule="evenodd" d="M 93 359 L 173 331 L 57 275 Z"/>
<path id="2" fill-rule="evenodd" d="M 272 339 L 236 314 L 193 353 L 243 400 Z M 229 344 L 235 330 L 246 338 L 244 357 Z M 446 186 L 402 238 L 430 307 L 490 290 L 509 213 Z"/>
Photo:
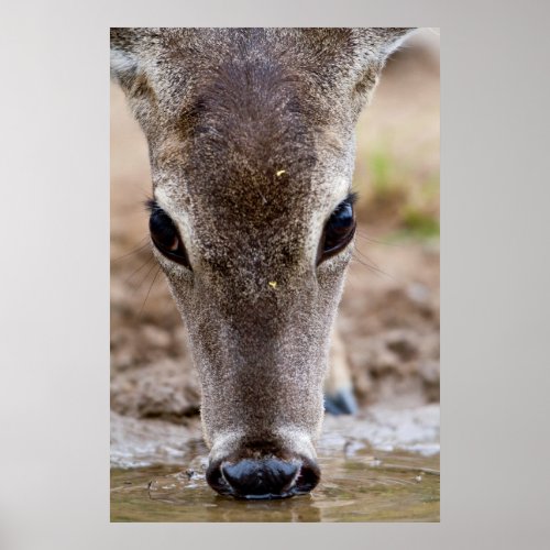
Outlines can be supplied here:
<path id="1" fill-rule="evenodd" d="M 275 458 L 243 459 L 235 463 L 211 465 L 208 483 L 219 493 L 238 498 L 284 498 L 309 493 L 319 481 L 316 464 Z"/>

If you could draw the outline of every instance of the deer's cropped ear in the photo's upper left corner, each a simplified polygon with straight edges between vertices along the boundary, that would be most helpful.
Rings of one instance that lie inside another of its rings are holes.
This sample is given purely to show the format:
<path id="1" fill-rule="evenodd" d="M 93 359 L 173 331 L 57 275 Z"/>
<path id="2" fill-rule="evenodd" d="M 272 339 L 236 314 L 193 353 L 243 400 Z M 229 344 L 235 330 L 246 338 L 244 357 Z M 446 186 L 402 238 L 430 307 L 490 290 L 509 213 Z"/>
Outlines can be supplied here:
<path id="1" fill-rule="evenodd" d="M 140 72 L 139 29 L 111 29 L 111 78 L 129 89 Z"/>

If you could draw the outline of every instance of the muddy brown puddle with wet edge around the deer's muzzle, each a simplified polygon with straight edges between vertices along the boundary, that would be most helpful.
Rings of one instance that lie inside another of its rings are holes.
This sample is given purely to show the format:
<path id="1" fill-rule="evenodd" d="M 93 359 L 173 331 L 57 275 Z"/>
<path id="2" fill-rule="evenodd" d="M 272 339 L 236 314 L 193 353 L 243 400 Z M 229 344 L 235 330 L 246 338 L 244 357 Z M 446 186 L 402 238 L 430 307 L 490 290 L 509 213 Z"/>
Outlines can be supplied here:
<path id="1" fill-rule="evenodd" d="M 217 495 L 205 481 L 200 438 L 180 449 L 168 440 L 166 433 L 166 447 L 147 447 L 119 432 L 111 521 L 439 521 L 439 408 L 328 418 L 318 446 L 320 484 L 282 501 Z M 120 468 L 135 464 L 142 466 Z"/>

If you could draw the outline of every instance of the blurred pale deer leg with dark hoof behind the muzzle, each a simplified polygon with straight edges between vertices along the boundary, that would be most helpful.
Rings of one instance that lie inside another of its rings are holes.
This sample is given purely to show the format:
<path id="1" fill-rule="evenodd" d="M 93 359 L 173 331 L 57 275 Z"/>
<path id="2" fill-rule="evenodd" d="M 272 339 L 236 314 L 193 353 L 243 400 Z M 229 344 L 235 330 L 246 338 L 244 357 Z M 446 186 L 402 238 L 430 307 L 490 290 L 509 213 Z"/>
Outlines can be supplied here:
<path id="1" fill-rule="evenodd" d="M 358 411 L 345 346 L 338 329 L 332 333 L 330 366 L 324 378 L 324 410 L 331 415 Z"/>

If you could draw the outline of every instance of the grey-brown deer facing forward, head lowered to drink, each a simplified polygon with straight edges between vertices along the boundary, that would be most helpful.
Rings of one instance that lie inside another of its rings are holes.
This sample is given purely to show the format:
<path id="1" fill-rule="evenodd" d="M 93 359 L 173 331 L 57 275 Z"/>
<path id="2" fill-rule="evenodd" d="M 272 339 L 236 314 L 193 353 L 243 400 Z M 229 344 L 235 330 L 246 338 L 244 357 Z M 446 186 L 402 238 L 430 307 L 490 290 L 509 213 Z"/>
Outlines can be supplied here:
<path id="1" fill-rule="evenodd" d="M 148 144 L 153 254 L 200 381 L 206 480 L 221 495 L 319 483 L 356 228 L 354 127 L 410 32 L 111 29 L 111 78 Z"/>

